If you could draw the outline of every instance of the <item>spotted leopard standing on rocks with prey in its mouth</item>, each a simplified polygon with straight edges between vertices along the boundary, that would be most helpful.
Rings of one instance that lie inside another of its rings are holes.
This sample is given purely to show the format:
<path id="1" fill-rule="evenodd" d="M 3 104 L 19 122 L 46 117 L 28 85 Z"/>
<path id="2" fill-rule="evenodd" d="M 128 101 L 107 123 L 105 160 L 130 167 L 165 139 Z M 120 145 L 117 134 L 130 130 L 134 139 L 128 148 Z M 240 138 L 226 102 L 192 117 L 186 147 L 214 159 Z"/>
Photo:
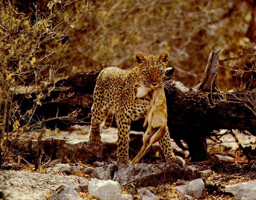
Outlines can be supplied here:
<path id="1" fill-rule="evenodd" d="M 131 122 L 145 118 L 149 111 L 152 92 L 148 92 L 145 97 L 136 98 L 138 88 L 145 85 L 153 91 L 162 87 L 168 59 L 168 52 L 159 56 L 135 53 L 136 66 L 131 70 L 107 67 L 97 77 L 88 139 L 99 142 L 100 128 L 109 128 L 115 118 L 118 131 L 117 164 L 131 163 L 128 154 Z M 181 166 L 185 164 L 180 156 L 173 153 L 168 126 L 165 127 L 159 145 L 166 163 L 177 163 Z"/>

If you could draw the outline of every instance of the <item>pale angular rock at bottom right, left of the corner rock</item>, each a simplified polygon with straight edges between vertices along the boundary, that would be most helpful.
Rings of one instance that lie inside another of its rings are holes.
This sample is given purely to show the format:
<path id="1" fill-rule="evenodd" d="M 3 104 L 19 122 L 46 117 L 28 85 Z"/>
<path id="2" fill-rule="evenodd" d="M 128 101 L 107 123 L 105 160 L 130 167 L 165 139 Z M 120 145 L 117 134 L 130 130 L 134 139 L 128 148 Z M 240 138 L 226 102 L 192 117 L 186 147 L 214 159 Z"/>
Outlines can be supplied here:
<path id="1" fill-rule="evenodd" d="M 204 181 L 202 179 L 192 180 L 187 185 L 175 187 L 182 196 L 188 195 L 196 198 L 205 196 Z"/>

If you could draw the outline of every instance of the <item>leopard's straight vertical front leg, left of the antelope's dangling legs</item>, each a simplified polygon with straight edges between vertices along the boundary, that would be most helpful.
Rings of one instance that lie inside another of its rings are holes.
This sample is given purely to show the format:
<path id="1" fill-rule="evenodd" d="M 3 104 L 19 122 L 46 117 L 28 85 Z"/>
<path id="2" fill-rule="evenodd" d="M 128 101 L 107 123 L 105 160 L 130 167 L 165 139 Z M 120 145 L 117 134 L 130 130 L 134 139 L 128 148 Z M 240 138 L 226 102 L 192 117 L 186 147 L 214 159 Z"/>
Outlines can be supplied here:
<path id="1" fill-rule="evenodd" d="M 129 132 L 131 122 L 121 114 L 117 119 L 118 124 L 118 147 L 117 147 L 117 163 L 129 164 L 131 163 L 128 155 L 129 149 Z"/>

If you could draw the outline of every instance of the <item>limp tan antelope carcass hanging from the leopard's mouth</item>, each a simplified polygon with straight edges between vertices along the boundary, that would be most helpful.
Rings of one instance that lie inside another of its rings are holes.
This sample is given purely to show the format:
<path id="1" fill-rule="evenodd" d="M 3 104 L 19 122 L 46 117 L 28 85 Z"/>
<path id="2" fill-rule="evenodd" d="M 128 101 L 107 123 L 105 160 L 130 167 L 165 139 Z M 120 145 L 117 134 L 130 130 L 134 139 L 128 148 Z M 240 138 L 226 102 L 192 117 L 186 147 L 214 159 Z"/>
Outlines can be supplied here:
<path id="1" fill-rule="evenodd" d="M 145 97 L 150 90 L 151 88 L 143 85 L 140 86 L 136 98 Z M 167 123 L 167 107 L 163 88 L 153 91 L 147 116 L 143 124 L 144 127 L 147 122 L 148 128 L 143 135 L 143 146 L 138 155 L 132 160 L 132 163 L 138 163 L 140 158 L 148 152 L 152 144 L 158 142 L 164 136 Z"/>

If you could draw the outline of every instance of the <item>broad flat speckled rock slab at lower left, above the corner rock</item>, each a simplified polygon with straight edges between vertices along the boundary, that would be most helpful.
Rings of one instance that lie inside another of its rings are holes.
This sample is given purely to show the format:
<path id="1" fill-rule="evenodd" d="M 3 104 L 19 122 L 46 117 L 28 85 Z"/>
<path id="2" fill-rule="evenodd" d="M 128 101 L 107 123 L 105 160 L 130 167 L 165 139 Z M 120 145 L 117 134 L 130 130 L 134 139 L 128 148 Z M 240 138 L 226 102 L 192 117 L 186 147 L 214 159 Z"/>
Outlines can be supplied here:
<path id="1" fill-rule="evenodd" d="M 49 175 L 24 171 L 0 171 L 0 190 L 14 189 L 24 194 L 47 194 L 61 185 L 87 192 L 89 181 L 77 176 Z"/>

